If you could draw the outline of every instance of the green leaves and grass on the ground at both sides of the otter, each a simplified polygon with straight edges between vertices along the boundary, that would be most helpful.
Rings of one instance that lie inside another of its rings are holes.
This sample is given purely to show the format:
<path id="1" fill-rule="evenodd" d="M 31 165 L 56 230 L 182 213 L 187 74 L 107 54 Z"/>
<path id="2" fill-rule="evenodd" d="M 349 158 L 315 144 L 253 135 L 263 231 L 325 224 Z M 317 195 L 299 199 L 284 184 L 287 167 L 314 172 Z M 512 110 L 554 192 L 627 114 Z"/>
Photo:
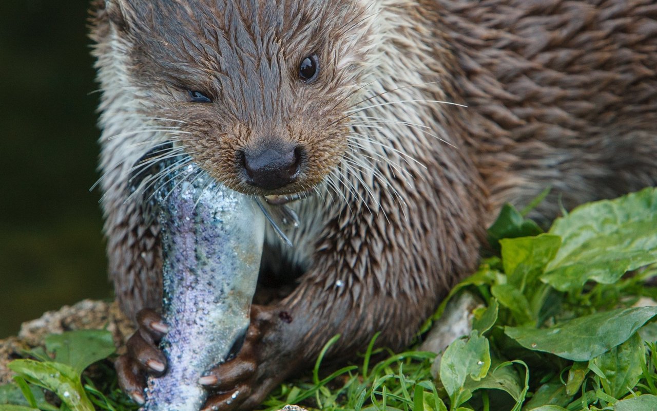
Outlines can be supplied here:
<path id="1" fill-rule="evenodd" d="M 320 357 L 263 408 L 657 410 L 657 307 L 641 304 L 657 299 L 646 286 L 657 276 L 657 189 L 580 206 L 545 233 L 505 206 L 489 238 L 496 255 L 447 299 L 468 292 L 484 306 L 472 333 L 445 350 L 438 379 L 436 354 L 373 350 L 375 337 L 358 365 L 323 377 Z M 106 331 L 49 337 L 45 351 L 30 352 L 36 360 L 12 362 L 16 384 L 0 387 L 0 404 L 12 405 L 0 410 L 136 410 L 106 360 L 81 382 L 81 371 L 113 350 Z M 380 356 L 387 358 L 372 366 Z"/>

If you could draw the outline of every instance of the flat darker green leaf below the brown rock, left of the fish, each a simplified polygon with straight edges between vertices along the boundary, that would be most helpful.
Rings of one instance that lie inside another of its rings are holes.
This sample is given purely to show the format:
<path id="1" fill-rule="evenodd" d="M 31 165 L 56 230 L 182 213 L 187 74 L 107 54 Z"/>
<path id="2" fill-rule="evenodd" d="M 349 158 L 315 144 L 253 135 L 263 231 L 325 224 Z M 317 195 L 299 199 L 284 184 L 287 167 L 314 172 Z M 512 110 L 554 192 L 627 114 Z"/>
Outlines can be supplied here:
<path id="1" fill-rule="evenodd" d="M 48 352 L 55 354 L 55 362 L 72 367 L 78 374 L 116 351 L 112 333 L 104 329 L 80 329 L 51 334 L 45 338 L 45 347 Z"/>

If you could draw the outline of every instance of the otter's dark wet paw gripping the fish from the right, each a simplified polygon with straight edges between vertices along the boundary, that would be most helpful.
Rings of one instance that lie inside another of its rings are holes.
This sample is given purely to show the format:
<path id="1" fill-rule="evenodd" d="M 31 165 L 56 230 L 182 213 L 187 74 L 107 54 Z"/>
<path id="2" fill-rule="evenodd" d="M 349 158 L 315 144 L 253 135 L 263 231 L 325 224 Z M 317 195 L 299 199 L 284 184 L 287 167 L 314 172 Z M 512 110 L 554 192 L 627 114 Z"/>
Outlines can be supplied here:
<path id="1" fill-rule="evenodd" d="M 281 355 L 290 347 L 281 344 L 278 319 L 273 308 L 252 306 L 251 324 L 237 356 L 199 380 L 212 393 L 203 411 L 252 410 L 288 376 L 293 362 Z"/>

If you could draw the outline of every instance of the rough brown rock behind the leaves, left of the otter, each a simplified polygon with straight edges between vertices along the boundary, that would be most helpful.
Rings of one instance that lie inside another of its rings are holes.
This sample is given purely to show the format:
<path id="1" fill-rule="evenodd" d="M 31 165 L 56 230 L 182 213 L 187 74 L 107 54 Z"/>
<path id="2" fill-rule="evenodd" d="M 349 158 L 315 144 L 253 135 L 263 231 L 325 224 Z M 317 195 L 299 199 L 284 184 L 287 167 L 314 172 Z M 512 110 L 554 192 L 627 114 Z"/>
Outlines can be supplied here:
<path id="1" fill-rule="evenodd" d="M 75 329 L 107 329 L 120 353 L 125 352 L 125 342 L 135 331 L 116 302 L 83 300 L 73 306 L 45 312 L 41 318 L 23 323 L 18 337 L 0 340 L 0 385 L 11 382 L 12 373 L 7 364 L 22 358 L 22 352 L 42 346 L 43 339 L 49 334 Z"/>

